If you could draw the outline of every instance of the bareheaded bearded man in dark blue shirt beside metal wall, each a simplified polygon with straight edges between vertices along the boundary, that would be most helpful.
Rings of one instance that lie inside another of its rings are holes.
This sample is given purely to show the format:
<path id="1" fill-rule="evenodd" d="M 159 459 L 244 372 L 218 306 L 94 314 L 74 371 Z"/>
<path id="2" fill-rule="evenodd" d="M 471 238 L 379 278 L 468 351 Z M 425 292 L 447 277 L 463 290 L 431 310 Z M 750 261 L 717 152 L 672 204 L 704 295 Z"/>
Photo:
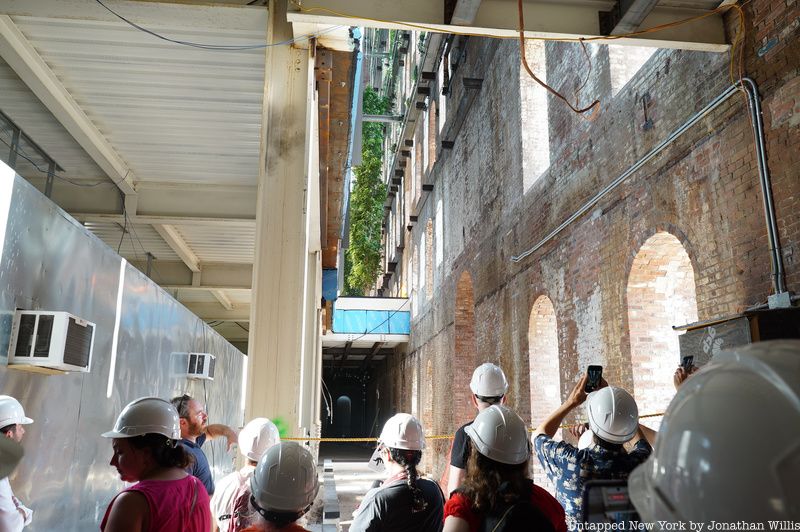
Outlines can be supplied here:
<path id="1" fill-rule="evenodd" d="M 236 431 L 227 425 L 209 425 L 208 414 L 203 405 L 188 394 L 173 397 L 171 402 L 181 418 L 181 444 L 194 458 L 189 473 L 203 482 L 209 496 L 214 495 L 214 477 L 208 465 L 208 458 L 203 452 L 203 444 L 206 440 L 224 436 L 230 448 L 236 443 Z"/>

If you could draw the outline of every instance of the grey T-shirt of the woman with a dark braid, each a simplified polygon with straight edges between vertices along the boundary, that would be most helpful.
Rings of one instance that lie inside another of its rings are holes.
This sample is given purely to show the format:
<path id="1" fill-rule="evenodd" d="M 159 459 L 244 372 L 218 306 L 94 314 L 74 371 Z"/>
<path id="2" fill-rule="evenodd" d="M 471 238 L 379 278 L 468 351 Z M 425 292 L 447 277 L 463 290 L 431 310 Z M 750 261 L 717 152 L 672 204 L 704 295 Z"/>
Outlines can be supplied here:
<path id="1" fill-rule="evenodd" d="M 432 480 L 418 478 L 417 486 L 428 503 L 420 512 L 411 511 L 411 490 L 405 479 L 367 492 L 350 532 L 440 532 L 444 519 L 444 496 Z"/>

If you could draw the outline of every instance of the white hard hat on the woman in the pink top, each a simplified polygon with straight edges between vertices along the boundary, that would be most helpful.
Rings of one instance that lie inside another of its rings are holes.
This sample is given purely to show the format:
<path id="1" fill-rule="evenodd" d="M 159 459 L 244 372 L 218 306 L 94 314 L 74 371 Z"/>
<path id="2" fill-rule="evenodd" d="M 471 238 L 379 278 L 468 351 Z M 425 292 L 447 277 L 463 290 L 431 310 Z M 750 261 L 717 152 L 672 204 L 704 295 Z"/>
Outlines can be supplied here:
<path id="1" fill-rule="evenodd" d="M 169 401 L 158 397 L 142 397 L 128 403 L 104 438 L 133 438 L 142 434 L 163 434 L 171 440 L 181 437 L 178 411 Z"/>

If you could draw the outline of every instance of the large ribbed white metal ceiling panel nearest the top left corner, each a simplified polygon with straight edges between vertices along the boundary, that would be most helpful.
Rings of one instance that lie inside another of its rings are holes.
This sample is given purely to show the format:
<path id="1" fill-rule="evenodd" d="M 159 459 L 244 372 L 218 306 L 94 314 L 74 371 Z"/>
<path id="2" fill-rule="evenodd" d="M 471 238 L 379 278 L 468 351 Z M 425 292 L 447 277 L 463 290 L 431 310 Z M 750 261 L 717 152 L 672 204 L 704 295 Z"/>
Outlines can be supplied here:
<path id="1" fill-rule="evenodd" d="M 158 9 L 157 5 L 153 9 Z M 122 22 L 14 17 L 20 31 L 141 182 L 256 183 L 264 51 L 205 50 Z M 218 45 L 264 43 L 265 28 L 150 27 Z"/>

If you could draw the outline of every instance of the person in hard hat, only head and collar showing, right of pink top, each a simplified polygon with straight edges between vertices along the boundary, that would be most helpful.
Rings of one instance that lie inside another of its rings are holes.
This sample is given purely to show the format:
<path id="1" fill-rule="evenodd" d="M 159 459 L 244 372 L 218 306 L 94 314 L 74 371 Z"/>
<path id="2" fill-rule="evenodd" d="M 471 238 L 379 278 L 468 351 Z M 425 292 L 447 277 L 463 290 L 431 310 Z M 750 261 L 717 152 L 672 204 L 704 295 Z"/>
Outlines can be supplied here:
<path id="1" fill-rule="evenodd" d="M 239 515 L 242 532 L 307 532 L 297 523 L 317 497 L 314 457 L 295 442 L 273 445 L 250 476 L 250 504 Z"/>

